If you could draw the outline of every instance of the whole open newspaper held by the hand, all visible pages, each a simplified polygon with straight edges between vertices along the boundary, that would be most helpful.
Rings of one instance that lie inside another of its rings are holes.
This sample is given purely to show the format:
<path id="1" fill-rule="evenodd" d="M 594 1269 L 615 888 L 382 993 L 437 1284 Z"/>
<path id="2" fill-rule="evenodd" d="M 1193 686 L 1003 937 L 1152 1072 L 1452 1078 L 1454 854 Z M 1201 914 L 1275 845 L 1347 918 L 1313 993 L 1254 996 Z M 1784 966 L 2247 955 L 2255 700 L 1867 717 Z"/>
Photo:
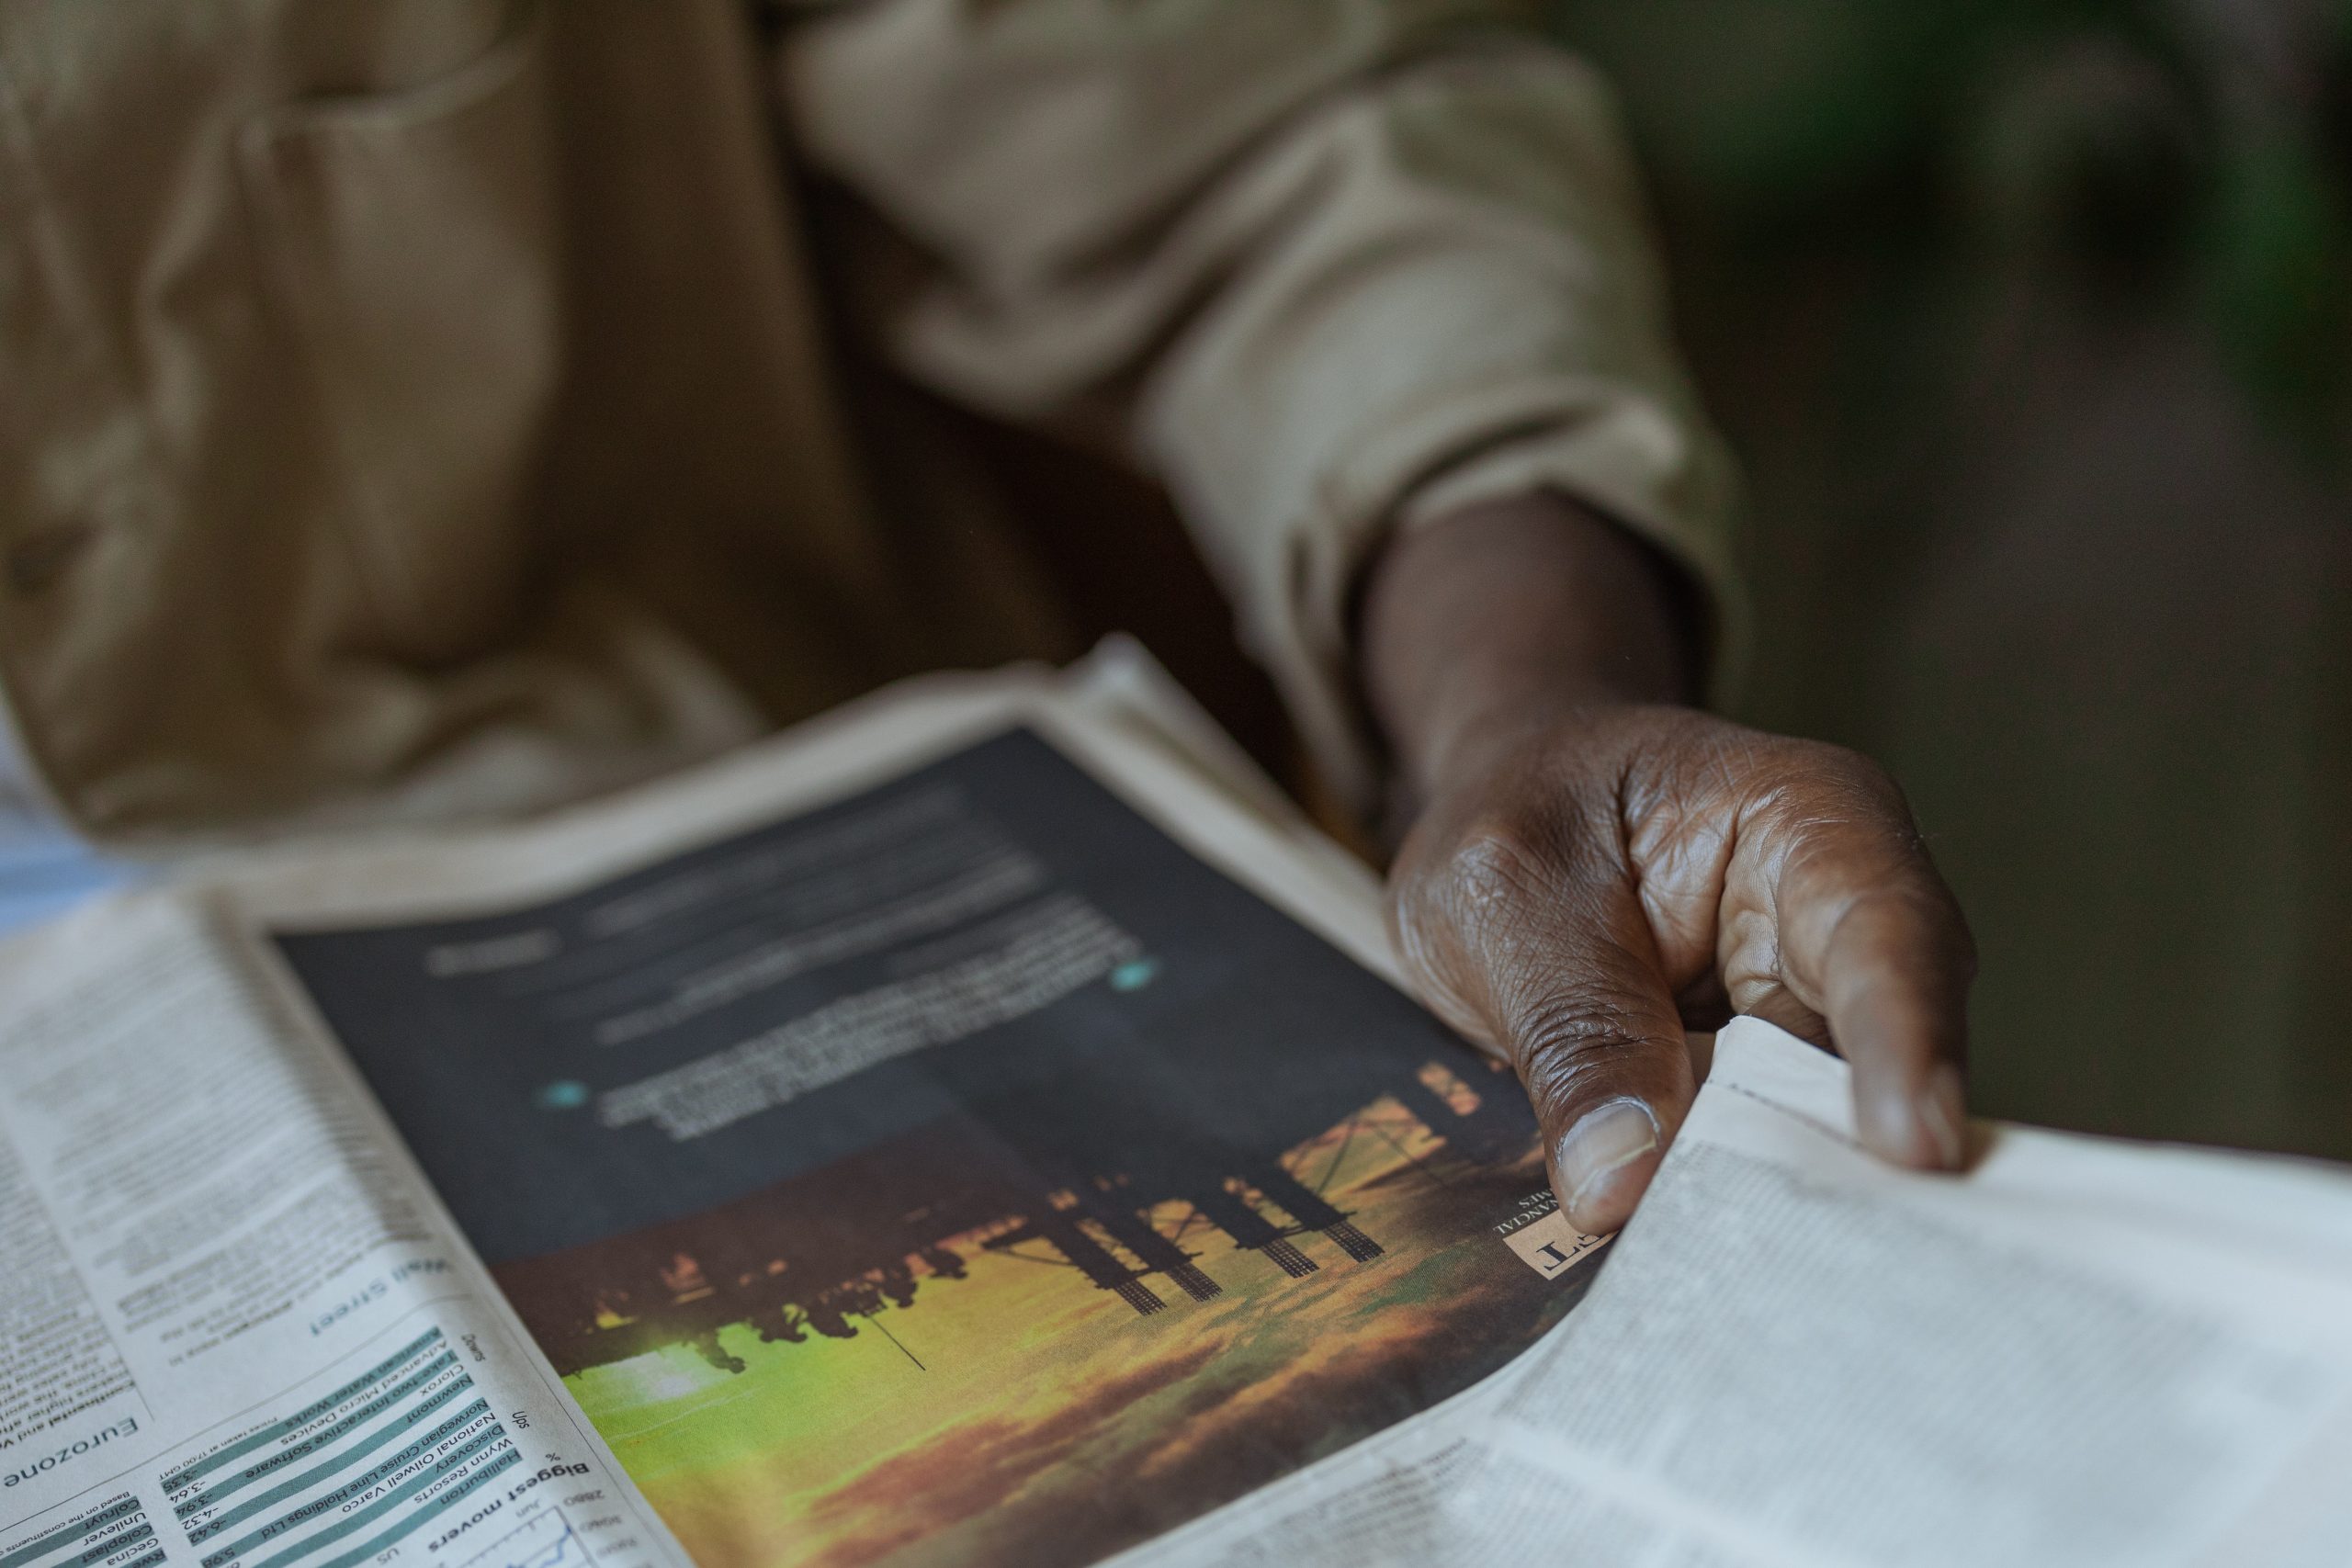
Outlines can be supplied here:
<path id="1" fill-rule="evenodd" d="M 1138 656 L 938 677 L 0 950 L 0 1568 L 2345 1561 L 2352 1180 L 1980 1138 L 1738 1020 L 1581 1237 Z"/>

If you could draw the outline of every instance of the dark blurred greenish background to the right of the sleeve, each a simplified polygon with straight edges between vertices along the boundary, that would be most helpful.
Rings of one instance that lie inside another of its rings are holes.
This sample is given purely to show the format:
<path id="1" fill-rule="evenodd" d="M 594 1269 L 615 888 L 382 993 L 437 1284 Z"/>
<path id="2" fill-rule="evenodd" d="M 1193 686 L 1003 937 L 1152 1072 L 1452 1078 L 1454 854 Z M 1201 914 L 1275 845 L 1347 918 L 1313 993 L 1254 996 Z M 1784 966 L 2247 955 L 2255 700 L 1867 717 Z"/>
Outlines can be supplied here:
<path id="1" fill-rule="evenodd" d="M 1740 715 L 1910 790 L 1978 1107 L 2352 1159 L 2352 5 L 1555 28 L 1748 470 Z"/>

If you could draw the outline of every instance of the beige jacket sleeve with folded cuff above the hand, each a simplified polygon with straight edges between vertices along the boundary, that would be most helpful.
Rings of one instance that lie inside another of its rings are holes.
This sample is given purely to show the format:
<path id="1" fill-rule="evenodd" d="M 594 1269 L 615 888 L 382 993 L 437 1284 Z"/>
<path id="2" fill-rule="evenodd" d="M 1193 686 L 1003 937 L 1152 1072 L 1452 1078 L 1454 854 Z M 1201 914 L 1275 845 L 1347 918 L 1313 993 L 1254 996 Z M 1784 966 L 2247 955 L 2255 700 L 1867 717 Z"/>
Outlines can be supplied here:
<path id="1" fill-rule="evenodd" d="M 1385 529 L 1555 487 L 1736 642 L 1729 465 L 1670 343 L 1611 101 L 1498 0 L 866 0 L 788 33 L 795 136 L 927 256 L 898 362 L 1110 409 L 1331 783 L 1369 802 L 1348 604 Z"/>

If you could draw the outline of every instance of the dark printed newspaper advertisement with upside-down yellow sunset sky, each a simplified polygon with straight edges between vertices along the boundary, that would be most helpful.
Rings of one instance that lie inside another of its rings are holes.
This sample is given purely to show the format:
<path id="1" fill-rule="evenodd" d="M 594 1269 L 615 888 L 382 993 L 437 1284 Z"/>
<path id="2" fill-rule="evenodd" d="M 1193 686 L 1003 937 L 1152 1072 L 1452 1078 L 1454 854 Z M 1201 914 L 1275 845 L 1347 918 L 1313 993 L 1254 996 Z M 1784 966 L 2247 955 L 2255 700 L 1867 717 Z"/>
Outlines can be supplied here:
<path id="1" fill-rule="evenodd" d="M 280 936 L 708 1563 L 1089 1563 L 1597 1246 L 1505 1070 L 1030 729 L 550 903 Z"/>

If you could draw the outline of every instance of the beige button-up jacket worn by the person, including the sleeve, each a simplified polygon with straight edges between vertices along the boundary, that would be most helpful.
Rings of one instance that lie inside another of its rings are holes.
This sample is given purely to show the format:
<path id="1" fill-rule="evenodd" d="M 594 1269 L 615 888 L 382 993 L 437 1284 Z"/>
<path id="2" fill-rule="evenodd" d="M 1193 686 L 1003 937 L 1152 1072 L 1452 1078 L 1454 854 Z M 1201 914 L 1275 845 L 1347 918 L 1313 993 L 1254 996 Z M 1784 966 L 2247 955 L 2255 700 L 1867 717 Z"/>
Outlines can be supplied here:
<path id="1" fill-rule="evenodd" d="M 506 811 L 1068 651 L 962 407 L 1174 491 L 1362 790 L 1383 527 L 1557 484 L 1729 592 L 1606 101 L 1510 9 L 14 0 L 21 748 L 106 842 Z"/>

